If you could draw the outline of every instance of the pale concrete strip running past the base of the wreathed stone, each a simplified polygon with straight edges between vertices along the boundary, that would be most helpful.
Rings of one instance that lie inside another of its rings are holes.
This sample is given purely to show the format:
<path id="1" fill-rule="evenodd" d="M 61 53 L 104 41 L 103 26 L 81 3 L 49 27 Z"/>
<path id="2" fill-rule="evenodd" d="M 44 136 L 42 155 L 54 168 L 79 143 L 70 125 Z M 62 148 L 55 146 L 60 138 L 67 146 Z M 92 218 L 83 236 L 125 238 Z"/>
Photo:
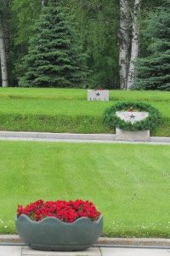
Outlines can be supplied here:
<path id="1" fill-rule="evenodd" d="M 26 131 L 0 131 L 0 140 L 35 141 L 35 142 L 66 142 L 66 143 L 140 143 L 170 144 L 170 137 L 150 137 L 144 141 L 118 141 L 115 134 L 76 134 Z"/>

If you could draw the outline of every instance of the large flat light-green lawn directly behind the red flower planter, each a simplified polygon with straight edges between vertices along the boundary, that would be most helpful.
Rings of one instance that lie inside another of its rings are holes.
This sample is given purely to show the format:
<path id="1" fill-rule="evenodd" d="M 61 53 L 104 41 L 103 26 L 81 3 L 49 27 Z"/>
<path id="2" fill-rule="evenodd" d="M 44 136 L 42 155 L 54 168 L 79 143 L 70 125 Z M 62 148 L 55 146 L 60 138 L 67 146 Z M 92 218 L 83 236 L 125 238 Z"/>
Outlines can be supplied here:
<path id="1" fill-rule="evenodd" d="M 103 236 L 170 236 L 170 147 L 0 142 L 0 233 L 14 233 L 18 204 L 93 201 Z"/>

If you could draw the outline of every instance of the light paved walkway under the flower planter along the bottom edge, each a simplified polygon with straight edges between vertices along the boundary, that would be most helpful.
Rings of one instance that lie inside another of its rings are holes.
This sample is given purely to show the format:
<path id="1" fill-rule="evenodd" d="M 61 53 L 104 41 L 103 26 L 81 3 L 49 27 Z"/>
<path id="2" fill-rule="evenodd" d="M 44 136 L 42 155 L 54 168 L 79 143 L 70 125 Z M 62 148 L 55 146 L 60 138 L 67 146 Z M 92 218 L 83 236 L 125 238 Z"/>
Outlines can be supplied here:
<path id="1" fill-rule="evenodd" d="M 25 246 L 0 246 L 1 256 L 170 256 L 170 249 L 90 247 L 83 252 L 44 252 Z"/>

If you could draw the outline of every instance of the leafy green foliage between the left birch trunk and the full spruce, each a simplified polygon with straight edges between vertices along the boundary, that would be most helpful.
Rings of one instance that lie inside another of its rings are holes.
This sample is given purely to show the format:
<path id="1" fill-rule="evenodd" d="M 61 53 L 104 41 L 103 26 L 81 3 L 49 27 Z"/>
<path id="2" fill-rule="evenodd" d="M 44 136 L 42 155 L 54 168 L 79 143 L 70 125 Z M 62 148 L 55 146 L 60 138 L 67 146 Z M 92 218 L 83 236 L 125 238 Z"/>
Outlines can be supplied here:
<path id="1" fill-rule="evenodd" d="M 12 0 L 10 4 L 10 86 L 17 86 L 20 61 L 27 54 L 33 26 L 41 14 L 41 1 Z"/>

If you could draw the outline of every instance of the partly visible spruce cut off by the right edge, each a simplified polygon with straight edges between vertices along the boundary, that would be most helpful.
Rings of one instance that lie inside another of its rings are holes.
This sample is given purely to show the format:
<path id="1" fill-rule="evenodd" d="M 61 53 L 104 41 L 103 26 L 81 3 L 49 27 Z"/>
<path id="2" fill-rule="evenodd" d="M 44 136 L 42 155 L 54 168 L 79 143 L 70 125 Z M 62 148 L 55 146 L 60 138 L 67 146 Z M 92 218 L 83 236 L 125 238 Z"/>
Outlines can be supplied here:
<path id="1" fill-rule="evenodd" d="M 139 58 L 136 63 L 138 80 L 134 88 L 170 90 L 170 13 L 168 8 L 158 10 L 151 15 L 145 33 L 148 38 L 151 38 L 150 55 Z"/>

